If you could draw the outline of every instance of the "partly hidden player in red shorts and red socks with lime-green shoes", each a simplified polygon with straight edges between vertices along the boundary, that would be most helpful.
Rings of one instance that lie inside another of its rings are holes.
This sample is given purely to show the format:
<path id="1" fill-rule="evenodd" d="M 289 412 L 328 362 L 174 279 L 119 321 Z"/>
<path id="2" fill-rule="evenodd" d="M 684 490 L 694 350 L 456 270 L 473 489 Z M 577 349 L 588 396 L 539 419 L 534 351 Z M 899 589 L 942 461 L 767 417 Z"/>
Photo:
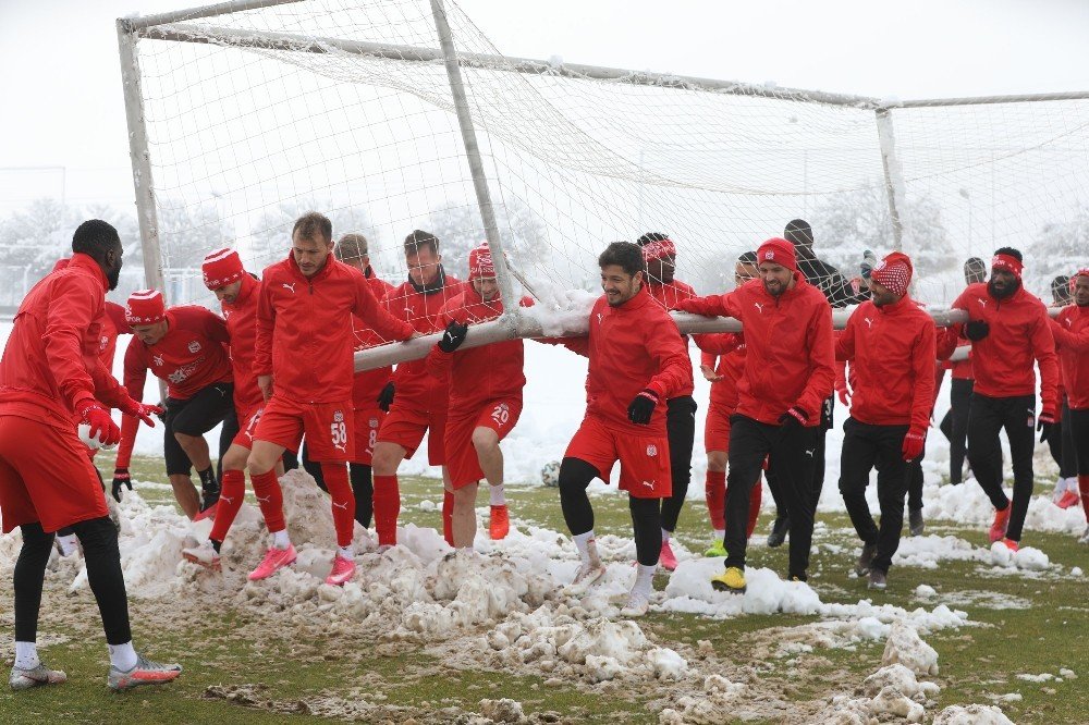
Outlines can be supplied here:
<path id="1" fill-rule="evenodd" d="M 756 266 L 756 253 L 746 251 L 734 265 L 734 285 L 739 287 L 760 275 Z M 737 409 L 737 381 L 745 369 L 745 335 L 702 335 L 703 352 L 700 354 L 700 371 L 711 383 L 711 396 L 707 406 L 707 421 L 703 426 L 703 448 L 707 451 L 707 480 L 703 493 L 707 513 L 711 519 L 714 540 L 705 556 L 725 556 L 722 543 L 726 534 L 726 462 L 730 452 L 730 416 Z M 712 344 L 721 347 L 708 352 Z M 747 537 L 752 536 L 757 517 L 760 515 L 760 500 L 763 487 L 758 482 L 749 501 Z"/>

